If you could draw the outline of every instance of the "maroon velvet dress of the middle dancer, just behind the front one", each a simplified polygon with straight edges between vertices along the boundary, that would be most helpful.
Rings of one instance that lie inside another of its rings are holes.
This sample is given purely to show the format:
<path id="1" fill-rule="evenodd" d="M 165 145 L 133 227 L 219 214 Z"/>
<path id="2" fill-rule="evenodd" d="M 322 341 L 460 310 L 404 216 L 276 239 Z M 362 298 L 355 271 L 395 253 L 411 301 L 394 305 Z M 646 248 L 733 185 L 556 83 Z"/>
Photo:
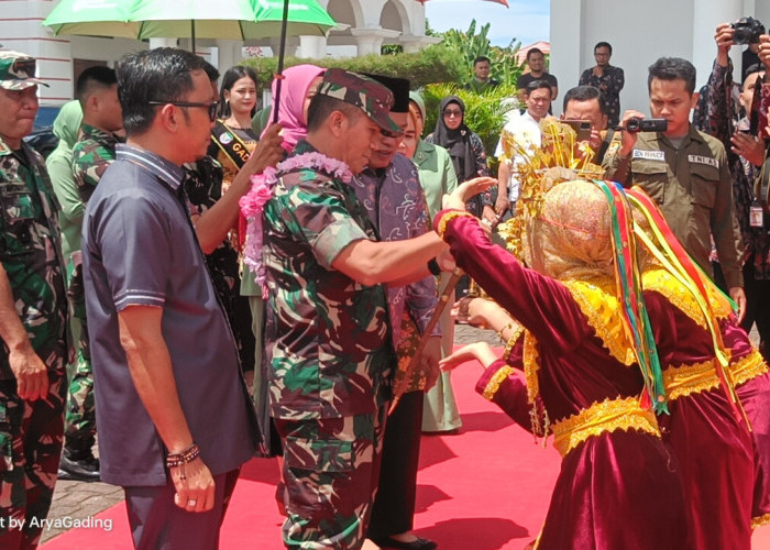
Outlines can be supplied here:
<path id="1" fill-rule="evenodd" d="M 670 415 L 658 421 L 682 473 L 688 548 L 749 549 L 751 436 L 719 384 L 705 318 L 663 270 L 647 271 L 642 285 L 669 398 Z"/>

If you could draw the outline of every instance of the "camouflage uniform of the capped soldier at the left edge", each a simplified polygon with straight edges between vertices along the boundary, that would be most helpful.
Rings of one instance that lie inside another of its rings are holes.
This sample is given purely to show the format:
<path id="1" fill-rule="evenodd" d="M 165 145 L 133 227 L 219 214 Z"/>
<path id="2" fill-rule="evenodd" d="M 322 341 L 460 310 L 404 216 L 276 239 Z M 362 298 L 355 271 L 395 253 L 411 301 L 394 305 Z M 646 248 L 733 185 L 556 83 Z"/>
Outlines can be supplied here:
<path id="1" fill-rule="evenodd" d="M 51 506 L 62 451 L 67 360 L 67 298 L 57 204 L 43 158 L 24 144 L 21 151 L 18 156 L 0 141 L 0 261 L 19 318 L 35 353 L 48 367 L 51 387 L 45 399 L 20 399 L 7 346 L 0 340 L 3 548 L 34 547 L 42 532 L 38 521 Z M 21 161 L 23 156 L 26 158 Z M 9 518 L 25 519 L 25 527 L 9 530 Z M 31 524 L 33 518 L 35 524 Z"/>

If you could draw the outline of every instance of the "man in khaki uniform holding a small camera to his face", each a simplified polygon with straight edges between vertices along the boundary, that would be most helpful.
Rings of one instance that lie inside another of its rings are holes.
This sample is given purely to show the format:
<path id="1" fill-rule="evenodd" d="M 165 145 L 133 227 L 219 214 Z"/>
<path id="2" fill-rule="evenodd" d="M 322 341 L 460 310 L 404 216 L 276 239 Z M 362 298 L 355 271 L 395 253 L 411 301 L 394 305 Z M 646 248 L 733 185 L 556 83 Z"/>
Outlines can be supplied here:
<path id="1" fill-rule="evenodd" d="M 622 131 L 622 139 L 607 152 L 605 177 L 626 187 L 638 185 L 658 204 L 682 245 L 705 273 L 713 276 L 711 238 L 730 297 L 746 312 L 740 271 L 743 243 L 733 206 L 733 183 L 725 147 L 690 123 L 697 101 L 692 63 L 661 57 L 649 68 L 650 112 L 666 119 L 659 132 Z M 639 111 L 626 111 L 622 128 Z"/>

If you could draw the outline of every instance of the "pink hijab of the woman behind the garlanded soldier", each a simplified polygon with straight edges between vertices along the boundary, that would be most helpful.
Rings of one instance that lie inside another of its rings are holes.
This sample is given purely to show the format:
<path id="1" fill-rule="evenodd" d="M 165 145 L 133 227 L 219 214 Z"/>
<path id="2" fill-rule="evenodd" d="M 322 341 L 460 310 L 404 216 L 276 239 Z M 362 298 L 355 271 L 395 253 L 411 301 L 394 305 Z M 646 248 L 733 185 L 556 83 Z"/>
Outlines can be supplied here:
<path id="1" fill-rule="evenodd" d="M 299 140 L 308 133 L 307 123 L 302 118 L 305 97 L 314 78 L 323 74 L 326 69 L 316 65 L 295 65 L 284 70 L 284 81 L 280 85 L 280 101 L 278 105 L 278 123 L 284 128 L 280 135 L 284 139 L 283 146 L 289 153 Z M 276 79 L 273 79 L 272 90 L 275 98 Z M 275 117 L 275 101 L 270 110 L 268 125 Z M 262 132 L 264 134 L 264 131 Z"/>

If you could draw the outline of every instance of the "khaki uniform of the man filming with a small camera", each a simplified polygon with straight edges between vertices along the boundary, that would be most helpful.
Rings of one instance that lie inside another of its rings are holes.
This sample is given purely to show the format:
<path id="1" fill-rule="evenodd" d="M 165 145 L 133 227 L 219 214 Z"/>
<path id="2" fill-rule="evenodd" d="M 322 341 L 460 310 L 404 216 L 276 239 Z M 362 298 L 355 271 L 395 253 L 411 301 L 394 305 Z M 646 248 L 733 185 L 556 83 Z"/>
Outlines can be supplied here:
<path id="1" fill-rule="evenodd" d="M 607 151 L 605 177 L 645 189 L 684 249 L 710 276 L 713 237 L 727 286 L 744 286 L 744 244 L 722 143 L 691 125 L 679 150 L 662 134 L 650 132 L 639 133 L 627 158 L 622 158 L 618 150 L 619 141 Z"/>

